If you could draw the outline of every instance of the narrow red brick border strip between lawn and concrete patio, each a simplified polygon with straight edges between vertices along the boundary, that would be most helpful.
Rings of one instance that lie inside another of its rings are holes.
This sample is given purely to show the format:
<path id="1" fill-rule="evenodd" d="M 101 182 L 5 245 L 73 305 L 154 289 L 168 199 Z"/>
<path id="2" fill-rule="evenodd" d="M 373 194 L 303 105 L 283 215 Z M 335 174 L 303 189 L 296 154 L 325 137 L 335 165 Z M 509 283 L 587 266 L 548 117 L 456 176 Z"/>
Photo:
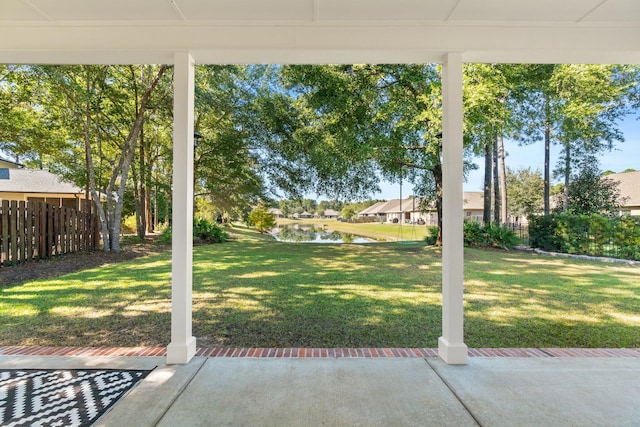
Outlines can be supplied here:
<path id="1" fill-rule="evenodd" d="M 0 346 L 0 356 L 166 356 L 165 347 Z M 199 348 L 201 357 L 402 358 L 437 357 L 434 348 Z M 640 348 L 470 348 L 469 357 L 640 357 Z"/>

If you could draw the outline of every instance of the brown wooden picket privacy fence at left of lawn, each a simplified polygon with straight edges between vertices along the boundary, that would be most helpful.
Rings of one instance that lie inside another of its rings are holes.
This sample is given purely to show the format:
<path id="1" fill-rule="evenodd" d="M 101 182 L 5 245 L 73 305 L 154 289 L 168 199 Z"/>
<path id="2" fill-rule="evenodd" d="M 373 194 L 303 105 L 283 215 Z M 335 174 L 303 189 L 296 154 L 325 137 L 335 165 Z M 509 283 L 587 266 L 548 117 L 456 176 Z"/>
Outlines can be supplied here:
<path id="1" fill-rule="evenodd" d="M 2 200 L 0 267 L 96 248 L 99 219 L 91 202 L 82 203 L 83 210 L 78 211 L 44 202 Z"/>

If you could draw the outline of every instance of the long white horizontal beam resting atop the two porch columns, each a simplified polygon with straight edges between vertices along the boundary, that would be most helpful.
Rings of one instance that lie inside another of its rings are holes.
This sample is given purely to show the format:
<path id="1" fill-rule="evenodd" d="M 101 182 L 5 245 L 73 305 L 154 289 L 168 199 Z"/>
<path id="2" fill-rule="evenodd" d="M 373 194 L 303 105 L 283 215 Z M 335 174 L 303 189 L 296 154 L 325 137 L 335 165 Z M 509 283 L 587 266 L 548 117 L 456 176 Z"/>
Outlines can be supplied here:
<path id="1" fill-rule="evenodd" d="M 640 63 L 639 40 L 640 28 L 623 25 L 3 26 L 0 62 L 168 63 L 188 49 L 198 63 L 440 62 L 445 52 L 474 62 Z"/>

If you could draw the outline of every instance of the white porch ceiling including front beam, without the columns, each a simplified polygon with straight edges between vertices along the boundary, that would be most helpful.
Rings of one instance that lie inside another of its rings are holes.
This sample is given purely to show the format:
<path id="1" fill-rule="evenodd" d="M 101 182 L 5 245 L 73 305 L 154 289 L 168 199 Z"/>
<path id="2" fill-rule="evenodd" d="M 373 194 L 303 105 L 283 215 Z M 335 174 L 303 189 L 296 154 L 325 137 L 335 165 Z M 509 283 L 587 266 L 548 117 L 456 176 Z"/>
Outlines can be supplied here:
<path id="1" fill-rule="evenodd" d="M 0 62 L 640 63 L 638 0 L 2 0 Z"/>

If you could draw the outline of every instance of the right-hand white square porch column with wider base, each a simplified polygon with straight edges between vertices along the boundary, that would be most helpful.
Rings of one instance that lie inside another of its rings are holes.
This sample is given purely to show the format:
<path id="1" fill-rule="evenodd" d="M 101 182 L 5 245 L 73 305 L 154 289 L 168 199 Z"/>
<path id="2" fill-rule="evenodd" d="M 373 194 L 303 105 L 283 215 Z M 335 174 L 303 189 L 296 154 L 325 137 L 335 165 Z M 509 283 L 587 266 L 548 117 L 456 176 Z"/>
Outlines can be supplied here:
<path id="1" fill-rule="evenodd" d="M 462 117 L 462 54 L 449 53 L 442 67 L 442 336 L 438 355 L 453 365 L 467 363 L 463 337 Z"/>

